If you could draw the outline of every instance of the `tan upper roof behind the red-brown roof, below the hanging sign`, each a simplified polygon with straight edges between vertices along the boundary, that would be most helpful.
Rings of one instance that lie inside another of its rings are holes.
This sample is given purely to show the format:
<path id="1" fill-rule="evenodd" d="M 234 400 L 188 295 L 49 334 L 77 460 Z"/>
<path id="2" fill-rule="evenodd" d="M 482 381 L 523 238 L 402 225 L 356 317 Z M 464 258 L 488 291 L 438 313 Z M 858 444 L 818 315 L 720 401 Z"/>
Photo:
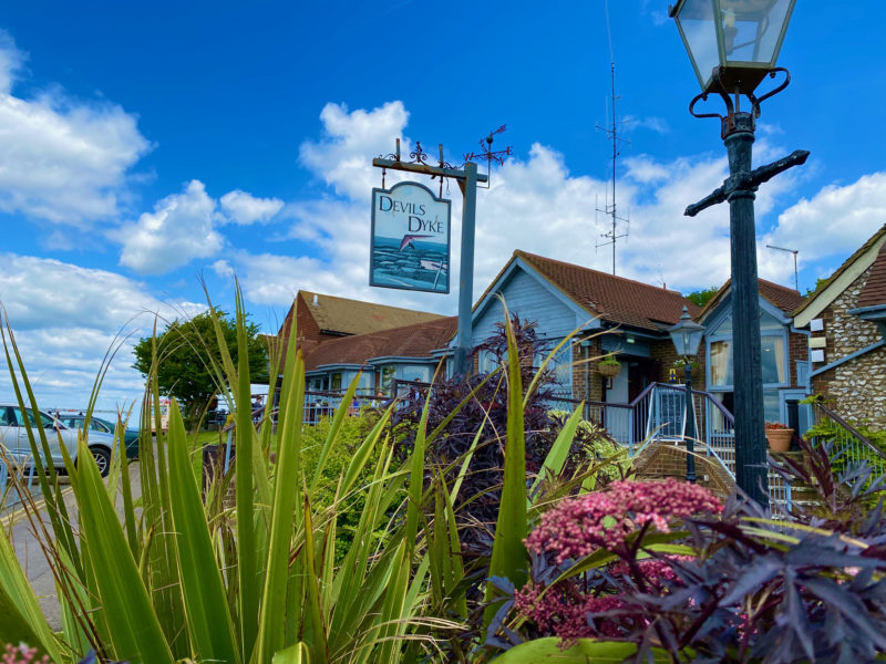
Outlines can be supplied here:
<path id="1" fill-rule="evenodd" d="M 309 291 L 299 291 L 320 331 L 342 334 L 364 334 L 390 328 L 412 325 L 443 317 L 436 313 L 413 311 L 374 302 L 337 298 Z"/>

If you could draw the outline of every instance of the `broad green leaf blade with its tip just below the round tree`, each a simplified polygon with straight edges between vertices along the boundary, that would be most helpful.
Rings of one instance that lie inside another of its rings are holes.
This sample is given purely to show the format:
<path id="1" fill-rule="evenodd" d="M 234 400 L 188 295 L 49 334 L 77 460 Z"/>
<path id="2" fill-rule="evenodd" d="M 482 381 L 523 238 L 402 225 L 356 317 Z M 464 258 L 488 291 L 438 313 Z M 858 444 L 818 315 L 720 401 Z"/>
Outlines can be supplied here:
<path id="1" fill-rule="evenodd" d="M 185 424 L 173 402 L 169 407 L 169 479 L 173 526 L 182 599 L 194 650 L 200 660 L 239 662 L 234 625 L 218 571 L 200 489 L 186 450 Z"/>

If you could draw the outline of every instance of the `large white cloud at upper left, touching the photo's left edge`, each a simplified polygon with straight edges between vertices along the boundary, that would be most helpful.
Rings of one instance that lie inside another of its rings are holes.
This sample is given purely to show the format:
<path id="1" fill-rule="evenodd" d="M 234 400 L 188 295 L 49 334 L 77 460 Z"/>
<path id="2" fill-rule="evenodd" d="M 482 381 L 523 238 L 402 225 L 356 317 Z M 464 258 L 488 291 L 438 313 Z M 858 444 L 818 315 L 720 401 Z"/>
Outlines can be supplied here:
<path id="1" fill-rule="evenodd" d="M 0 211 L 86 227 L 113 218 L 126 172 L 151 145 L 119 105 L 12 94 L 22 54 L 0 32 Z"/>

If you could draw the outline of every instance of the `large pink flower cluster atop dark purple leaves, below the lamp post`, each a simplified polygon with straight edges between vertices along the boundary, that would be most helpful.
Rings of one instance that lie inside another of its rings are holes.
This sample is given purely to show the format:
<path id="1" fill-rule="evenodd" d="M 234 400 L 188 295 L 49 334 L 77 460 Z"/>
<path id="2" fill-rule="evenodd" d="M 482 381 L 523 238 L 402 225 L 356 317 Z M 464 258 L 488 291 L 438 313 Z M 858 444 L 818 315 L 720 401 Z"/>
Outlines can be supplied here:
<path id="1" fill-rule="evenodd" d="M 645 523 L 670 531 L 676 517 L 720 513 L 722 504 L 704 487 L 664 481 L 614 481 L 606 491 L 563 500 L 542 517 L 526 538 L 535 553 L 550 553 L 556 563 L 577 560 L 599 548 L 618 552 L 625 540 Z"/>

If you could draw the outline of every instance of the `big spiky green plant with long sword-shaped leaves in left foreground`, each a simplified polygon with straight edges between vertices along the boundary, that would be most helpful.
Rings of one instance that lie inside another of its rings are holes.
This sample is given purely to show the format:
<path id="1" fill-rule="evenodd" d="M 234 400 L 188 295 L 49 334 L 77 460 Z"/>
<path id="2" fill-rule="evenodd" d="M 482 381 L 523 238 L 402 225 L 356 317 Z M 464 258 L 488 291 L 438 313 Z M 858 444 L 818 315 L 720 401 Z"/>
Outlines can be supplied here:
<path id="1" fill-rule="evenodd" d="M 214 311 L 212 304 L 209 310 Z M 236 320 L 243 345 L 239 292 Z M 284 362 L 279 413 L 272 422 L 268 404 L 258 427 L 251 421 L 249 366 L 245 362 L 235 366 L 218 325 L 216 336 L 220 362 L 209 361 L 209 369 L 219 393 L 233 395 L 229 405 L 237 423 L 235 464 L 227 475 L 204 477 L 203 450 L 197 436 L 186 433 L 175 402 L 168 430 L 161 430 L 156 371 L 147 375 L 142 408 L 141 497 L 133 494 L 121 454 L 124 426 L 117 427 L 106 480 L 87 453 L 84 428 L 78 463 L 70 456 L 65 459 L 73 488 L 73 500 L 69 496 L 68 502 L 54 467 L 41 460 L 49 458 L 47 430 L 39 423 L 28 428 L 45 507 L 38 510 L 27 499 L 24 509 L 56 579 L 62 629 L 53 633 L 47 623 L 7 533 L 0 530 L 0 640 L 25 641 L 60 663 L 75 662 L 91 650 L 101 660 L 152 663 L 394 664 L 440 658 L 441 644 L 470 619 L 453 506 L 474 448 L 453 467 L 429 474 L 424 449 L 442 429 L 425 432 L 425 409 L 411 457 L 395 461 L 388 426 L 391 406 L 350 452 L 334 498 L 330 501 L 328 487 L 322 487 L 324 499 L 318 500 L 320 483 L 328 481 L 327 460 L 343 444 L 340 432 L 347 408 L 339 408 L 332 419 L 316 461 L 305 464 L 305 364 L 295 325 Z M 522 543 L 527 519 L 539 506 L 527 490 L 522 458 L 524 393 L 513 333 L 508 339 L 507 380 L 514 388 L 491 572 L 519 581 L 528 563 Z M 37 409 L 8 321 L 3 345 L 19 404 Z M 111 357 L 113 352 L 107 362 Z M 154 366 L 163 361 L 155 345 Z M 279 366 L 279 361 L 272 357 L 271 366 Z M 342 403 L 352 401 L 358 381 Z M 276 386 L 270 387 L 274 393 Z M 575 430 L 571 424 L 555 443 L 546 471 L 562 467 L 560 457 Z M 452 484 L 443 479 L 453 476 Z M 558 486 L 579 490 L 581 481 L 578 476 Z M 547 500 L 555 497 L 546 495 Z M 362 508 L 352 543 L 343 560 L 337 560 L 338 517 L 344 506 L 354 504 Z M 492 591 L 488 598 L 495 602 Z M 457 654 L 467 658 L 468 651 Z"/>

